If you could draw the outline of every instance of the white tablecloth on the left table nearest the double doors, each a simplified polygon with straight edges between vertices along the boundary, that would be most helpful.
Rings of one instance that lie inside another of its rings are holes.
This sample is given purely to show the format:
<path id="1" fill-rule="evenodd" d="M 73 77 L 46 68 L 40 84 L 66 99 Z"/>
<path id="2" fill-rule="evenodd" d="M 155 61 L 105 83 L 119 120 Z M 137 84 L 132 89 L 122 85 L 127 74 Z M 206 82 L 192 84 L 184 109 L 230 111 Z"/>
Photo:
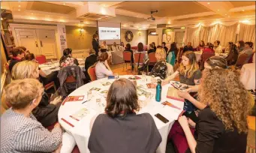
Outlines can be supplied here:
<path id="1" fill-rule="evenodd" d="M 82 62 L 80 62 L 82 64 Z M 84 62 L 83 65 L 79 65 L 79 67 L 82 69 L 82 71 L 85 71 Z M 42 65 L 39 65 L 39 68 L 44 72 L 44 74 L 51 74 L 52 72 L 59 71 L 61 68 L 59 68 L 59 61 L 54 62 L 53 64 L 51 62 L 44 63 Z"/>

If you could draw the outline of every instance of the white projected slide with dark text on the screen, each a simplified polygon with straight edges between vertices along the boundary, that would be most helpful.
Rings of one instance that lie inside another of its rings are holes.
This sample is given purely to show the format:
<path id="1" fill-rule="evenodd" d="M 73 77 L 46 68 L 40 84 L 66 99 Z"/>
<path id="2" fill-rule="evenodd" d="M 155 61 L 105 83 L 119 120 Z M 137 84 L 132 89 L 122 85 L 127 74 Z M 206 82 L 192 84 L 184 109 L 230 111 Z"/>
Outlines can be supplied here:
<path id="1" fill-rule="evenodd" d="M 98 27 L 100 40 L 119 40 L 120 28 Z"/>

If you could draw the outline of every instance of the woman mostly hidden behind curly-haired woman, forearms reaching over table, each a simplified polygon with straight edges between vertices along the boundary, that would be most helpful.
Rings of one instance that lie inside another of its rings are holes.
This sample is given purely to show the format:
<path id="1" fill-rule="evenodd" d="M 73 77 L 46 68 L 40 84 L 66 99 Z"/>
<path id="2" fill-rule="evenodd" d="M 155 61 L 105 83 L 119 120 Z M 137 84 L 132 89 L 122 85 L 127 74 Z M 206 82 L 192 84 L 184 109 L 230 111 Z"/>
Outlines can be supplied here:
<path id="1" fill-rule="evenodd" d="M 223 69 L 227 69 L 227 61 L 225 58 L 221 58 L 219 56 L 212 56 L 208 59 L 206 59 L 206 61 L 204 62 L 204 68 L 206 69 L 212 69 L 212 68 L 223 68 Z M 185 89 L 185 91 L 179 91 L 178 95 L 179 97 L 185 98 L 186 100 L 190 101 L 194 107 L 197 107 L 197 109 L 199 110 L 203 110 L 206 105 L 203 103 L 200 103 L 199 101 L 197 101 L 196 99 L 194 99 L 189 93 L 190 92 L 198 92 L 198 88 L 200 85 L 198 86 L 191 86 L 188 89 Z"/>

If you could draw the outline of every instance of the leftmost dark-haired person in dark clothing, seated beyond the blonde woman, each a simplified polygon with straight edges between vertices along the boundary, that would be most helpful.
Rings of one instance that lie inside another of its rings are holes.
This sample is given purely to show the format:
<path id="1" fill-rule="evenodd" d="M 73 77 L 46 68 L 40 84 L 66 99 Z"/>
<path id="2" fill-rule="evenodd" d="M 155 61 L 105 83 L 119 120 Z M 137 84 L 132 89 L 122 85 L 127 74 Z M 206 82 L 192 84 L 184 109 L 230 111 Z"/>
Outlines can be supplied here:
<path id="1" fill-rule="evenodd" d="M 11 54 L 13 55 L 11 57 L 11 62 L 9 64 L 9 70 L 12 71 L 14 68 L 14 65 L 17 64 L 17 62 L 21 62 L 22 58 L 25 56 L 25 52 L 20 47 L 16 47 L 11 51 Z"/>

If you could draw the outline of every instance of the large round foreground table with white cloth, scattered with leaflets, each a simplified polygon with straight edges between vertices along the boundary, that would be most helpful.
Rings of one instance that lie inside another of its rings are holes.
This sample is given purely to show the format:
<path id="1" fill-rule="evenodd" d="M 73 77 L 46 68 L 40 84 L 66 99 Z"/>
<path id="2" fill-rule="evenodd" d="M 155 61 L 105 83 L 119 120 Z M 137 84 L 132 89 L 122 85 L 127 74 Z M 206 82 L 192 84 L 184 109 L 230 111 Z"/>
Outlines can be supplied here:
<path id="1" fill-rule="evenodd" d="M 119 76 L 120 78 L 128 78 L 131 76 Z M 141 76 L 138 76 L 142 78 Z M 92 117 L 98 115 L 99 113 L 104 113 L 104 106 L 106 106 L 106 94 L 101 94 L 102 91 L 108 90 L 110 85 L 103 86 L 104 83 L 113 83 L 114 80 L 108 80 L 107 78 L 96 80 L 91 83 L 88 83 L 84 86 L 81 86 L 79 89 L 76 89 L 69 96 L 84 96 L 83 100 L 80 101 L 68 101 L 62 102 L 61 107 L 59 108 L 59 123 L 66 130 L 67 133 L 71 134 L 74 137 L 75 142 L 77 143 L 78 148 L 81 153 L 88 153 L 88 141 L 90 136 L 89 125 Z M 137 80 L 137 86 L 145 88 L 148 92 L 155 93 L 155 89 L 147 89 L 146 83 L 151 82 L 151 77 L 146 76 L 144 79 Z M 167 89 L 170 85 L 162 86 L 161 93 L 161 102 L 155 101 L 155 94 L 152 95 L 152 98 L 147 101 L 147 104 L 143 106 L 142 109 L 138 113 L 149 113 L 155 120 L 155 124 L 158 127 L 159 132 L 161 133 L 162 141 L 158 146 L 158 153 L 165 153 L 166 144 L 167 144 L 167 136 L 172 127 L 174 121 L 178 118 L 179 114 L 183 110 L 184 103 L 181 101 L 175 101 L 166 98 L 167 97 Z M 92 99 L 84 104 L 83 101 L 87 100 L 87 92 L 92 88 L 98 88 L 99 91 L 92 90 Z M 101 99 L 101 104 L 96 103 L 96 99 Z M 140 99 L 140 97 L 139 97 Z M 176 107 L 179 107 L 179 110 L 173 109 L 170 111 L 170 107 L 164 107 L 161 103 L 164 101 L 169 101 Z M 73 116 L 77 115 L 80 110 L 86 109 L 86 115 L 83 118 L 80 118 L 79 121 L 74 119 Z M 168 110 L 169 109 L 169 110 Z M 160 113 L 165 118 L 169 120 L 166 124 L 160 121 L 155 117 L 155 114 Z"/>

